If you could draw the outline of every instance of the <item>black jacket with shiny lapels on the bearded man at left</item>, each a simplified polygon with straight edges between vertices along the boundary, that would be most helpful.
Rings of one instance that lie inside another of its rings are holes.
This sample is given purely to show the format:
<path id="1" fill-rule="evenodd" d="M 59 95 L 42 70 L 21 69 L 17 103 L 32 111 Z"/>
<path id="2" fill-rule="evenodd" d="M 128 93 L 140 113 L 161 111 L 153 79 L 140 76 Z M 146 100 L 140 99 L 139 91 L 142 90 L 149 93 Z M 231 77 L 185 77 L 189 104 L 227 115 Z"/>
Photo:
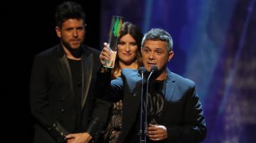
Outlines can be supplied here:
<path id="1" fill-rule="evenodd" d="M 82 130 L 93 139 L 100 135 L 110 108 L 109 103 L 93 96 L 99 55 L 99 51 L 82 46 Z M 65 142 L 65 135 L 74 133 L 76 114 L 68 58 L 60 45 L 36 55 L 30 92 L 31 112 L 36 118 L 34 142 Z"/>

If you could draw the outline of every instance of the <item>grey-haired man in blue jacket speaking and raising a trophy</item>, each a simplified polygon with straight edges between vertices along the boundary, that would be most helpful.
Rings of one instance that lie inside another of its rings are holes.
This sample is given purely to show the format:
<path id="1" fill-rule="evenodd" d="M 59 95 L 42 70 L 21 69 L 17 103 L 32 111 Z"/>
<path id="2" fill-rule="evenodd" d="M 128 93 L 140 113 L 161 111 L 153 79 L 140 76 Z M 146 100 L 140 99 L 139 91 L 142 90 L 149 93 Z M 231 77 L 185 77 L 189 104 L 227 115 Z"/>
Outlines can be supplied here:
<path id="1" fill-rule="evenodd" d="M 123 99 L 122 130 L 117 142 L 180 143 L 205 139 L 206 122 L 195 83 L 167 68 L 167 62 L 174 56 L 172 47 L 171 35 L 165 30 L 151 29 L 144 35 L 141 51 L 145 73 L 150 73 L 152 67 L 158 69 L 149 78 L 148 94 L 137 70 L 123 69 L 122 75 L 112 81 L 109 69 L 102 67 L 98 73 L 100 92 L 97 96 L 105 96 L 110 101 Z M 100 55 L 102 64 L 109 59 L 110 52 L 106 45 Z M 146 140 L 143 127 L 146 128 Z"/>

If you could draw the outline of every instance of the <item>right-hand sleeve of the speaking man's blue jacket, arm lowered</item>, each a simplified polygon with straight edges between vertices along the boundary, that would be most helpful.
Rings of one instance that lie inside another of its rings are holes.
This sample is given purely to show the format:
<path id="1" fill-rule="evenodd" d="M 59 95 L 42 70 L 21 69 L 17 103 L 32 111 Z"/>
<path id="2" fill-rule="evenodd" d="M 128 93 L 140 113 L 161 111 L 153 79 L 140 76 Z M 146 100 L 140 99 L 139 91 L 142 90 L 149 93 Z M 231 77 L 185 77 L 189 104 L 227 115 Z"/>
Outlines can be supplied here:
<path id="1" fill-rule="evenodd" d="M 187 92 L 184 124 L 166 127 L 167 142 L 202 142 L 206 137 L 206 121 L 196 87 L 192 86 Z"/>

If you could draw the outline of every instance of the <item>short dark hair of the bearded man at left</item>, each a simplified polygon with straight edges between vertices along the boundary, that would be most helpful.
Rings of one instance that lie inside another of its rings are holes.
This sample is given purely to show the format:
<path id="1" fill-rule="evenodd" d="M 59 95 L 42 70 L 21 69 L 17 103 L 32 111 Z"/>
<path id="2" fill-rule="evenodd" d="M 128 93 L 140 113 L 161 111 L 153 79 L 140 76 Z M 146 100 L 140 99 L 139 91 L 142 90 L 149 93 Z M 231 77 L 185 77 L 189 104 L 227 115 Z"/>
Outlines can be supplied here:
<path id="1" fill-rule="evenodd" d="M 82 18 L 85 23 L 85 12 L 80 4 L 74 1 L 64 1 L 58 5 L 55 11 L 55 23 L 58 27 L 62 27 L 63 23 L 68 19 Z"/>

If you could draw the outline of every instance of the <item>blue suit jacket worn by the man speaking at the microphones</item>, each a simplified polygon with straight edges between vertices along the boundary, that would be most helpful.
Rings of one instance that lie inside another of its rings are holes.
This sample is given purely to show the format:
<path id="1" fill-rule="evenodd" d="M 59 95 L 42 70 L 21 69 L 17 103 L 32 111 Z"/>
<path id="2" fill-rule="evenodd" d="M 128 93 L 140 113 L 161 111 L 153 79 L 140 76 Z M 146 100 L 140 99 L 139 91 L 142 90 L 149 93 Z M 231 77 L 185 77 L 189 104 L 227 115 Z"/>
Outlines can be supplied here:
<path id="1" fill-rule="evenodd" d="M 109 76 L 98 75 L 97 82 L 108 100 L 123 99 L 122 130 L 117 142 L 125 142 L 127 135 L 135 132 L 134 122 L 139 120 L 142 76 L 137 69 L 123 69 L 122 75 L 111 83 Z M 167 69 L 165 100 L 159 122 L 168 132 L 164 142 L 201 142 L 206 137 L 206 122 L 194 82 Z"/>

